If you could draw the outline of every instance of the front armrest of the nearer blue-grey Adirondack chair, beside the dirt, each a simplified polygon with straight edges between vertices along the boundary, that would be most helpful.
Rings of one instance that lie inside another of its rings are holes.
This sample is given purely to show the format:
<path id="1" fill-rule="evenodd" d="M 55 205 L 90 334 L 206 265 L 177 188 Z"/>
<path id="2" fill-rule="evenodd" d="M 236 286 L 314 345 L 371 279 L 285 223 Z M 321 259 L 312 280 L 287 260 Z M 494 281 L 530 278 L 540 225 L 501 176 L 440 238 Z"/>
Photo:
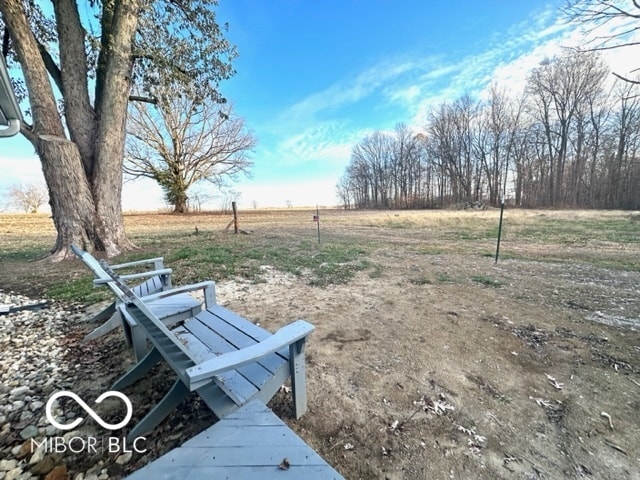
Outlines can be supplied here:
<path id="1" fill-rule="evenodd" d="M 248 363 L 254 363 L 266 355 L 282 350 L 284 347 L 291 347 L 291 345 L 309 336 L 313 329 L 314 327 L 310 323 L 304 320 L 296 320 L 250 347 L 223 353 L 199 365 L 188 368 L 186 377 L 189 381 L 189 389 L 191 391 L 197 390 L 211 381 L 211 378 L 215 375 L 239 368 Z"/>

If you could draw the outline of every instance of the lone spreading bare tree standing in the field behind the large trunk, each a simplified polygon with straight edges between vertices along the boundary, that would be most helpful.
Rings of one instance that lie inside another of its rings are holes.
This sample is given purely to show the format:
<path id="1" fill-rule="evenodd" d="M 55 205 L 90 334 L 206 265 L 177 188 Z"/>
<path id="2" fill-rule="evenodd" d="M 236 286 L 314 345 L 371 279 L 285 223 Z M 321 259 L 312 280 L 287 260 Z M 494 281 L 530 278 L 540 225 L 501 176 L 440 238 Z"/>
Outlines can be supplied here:
<path id="1" fill-rule="evenodd" d="M 230 106 L 197 96 L 174 96 L 132 104 L 127 125 L 125 172 L 155 180 L 173 205 L 188 211 L 188 190 L 209 181 L 221 187 L 252 166 L 248 154 L 256 144 Z"/>

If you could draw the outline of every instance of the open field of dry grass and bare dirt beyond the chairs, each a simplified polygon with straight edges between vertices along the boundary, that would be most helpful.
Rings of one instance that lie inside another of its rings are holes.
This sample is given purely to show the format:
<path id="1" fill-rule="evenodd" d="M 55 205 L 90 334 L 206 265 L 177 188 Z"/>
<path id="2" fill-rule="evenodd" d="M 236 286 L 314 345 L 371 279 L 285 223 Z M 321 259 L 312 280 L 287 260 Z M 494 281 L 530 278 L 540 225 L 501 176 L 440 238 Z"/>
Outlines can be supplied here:
<path id="1" fill-rule="evenodd" d="M 314 324 L 309 411 L 271 407 L 345 478 L 640 478 L 640 214 L 506 210 L 496 263 L 498 210 L 321 211 L 320 243 L 314 213 L 241 212 L 240 235 L 228 215 L 129 215 L 140 249 L 114 261 L 164 256 L 265 328 Z M 95 309 L 108 295 L 80 262 L 36 260 L 54 238 L 45 216 L 0 215 L 0 289 Z M 80 346 L 91 328 L 65 342 L 100 356 L 82 388 L 132 361 L 118 332 Z M 214 420 L 185 403 L 122 473 Z"/>

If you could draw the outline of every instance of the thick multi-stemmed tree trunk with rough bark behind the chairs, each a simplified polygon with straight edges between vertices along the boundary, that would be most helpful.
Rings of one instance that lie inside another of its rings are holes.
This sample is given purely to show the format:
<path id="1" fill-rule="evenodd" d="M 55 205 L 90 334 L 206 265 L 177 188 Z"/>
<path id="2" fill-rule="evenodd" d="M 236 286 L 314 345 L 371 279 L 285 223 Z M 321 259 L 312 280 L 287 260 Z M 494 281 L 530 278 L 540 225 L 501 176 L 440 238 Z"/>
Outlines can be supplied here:
<path id="1" fill-rule="evenodd" d="M 60 70 L 43 60 L 22 0 L 0 0 L 0 12 L 10 31 L 31 105 L 33 125 L 23 127 L 22 133 L 40 156 L 57 230 L 49 258 L 72 256 L 71 243 L 114 256 L 133 248 L 124 231 L 121 192 L 131 45 L 139 2 L 118 3 L 111 30 L 103 32 L 108 44 L 103 58 L 107 61 L 101 72 L 104 83 L 96 93 L 101 97 L 96 98 L 100 106 L 97 113 L 89 103 L 84 33 L 75 2 L 60 0 L 54 5 Z M 71 140 L 58 113 L 50 78 L 62 91 Z"/>

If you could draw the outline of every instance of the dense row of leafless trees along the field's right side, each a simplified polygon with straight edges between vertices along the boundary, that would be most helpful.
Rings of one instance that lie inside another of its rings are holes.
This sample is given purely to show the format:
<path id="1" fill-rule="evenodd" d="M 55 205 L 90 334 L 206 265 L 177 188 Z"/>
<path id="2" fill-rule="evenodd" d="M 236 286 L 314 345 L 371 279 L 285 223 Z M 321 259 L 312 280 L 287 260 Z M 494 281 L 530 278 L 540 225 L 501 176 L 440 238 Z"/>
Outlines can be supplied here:
<path id="1" fill-rule="evenodd" d="M 523 207 L 640 208 L 640 87 L 594 53 L 533 69 L 523 92 L 433 108 L 422 132 L 404 124 L 355 145 L 337 185 L 345 208 L 464 202 Z M 609 86 L 608 86 L 609 85 Z"/>

